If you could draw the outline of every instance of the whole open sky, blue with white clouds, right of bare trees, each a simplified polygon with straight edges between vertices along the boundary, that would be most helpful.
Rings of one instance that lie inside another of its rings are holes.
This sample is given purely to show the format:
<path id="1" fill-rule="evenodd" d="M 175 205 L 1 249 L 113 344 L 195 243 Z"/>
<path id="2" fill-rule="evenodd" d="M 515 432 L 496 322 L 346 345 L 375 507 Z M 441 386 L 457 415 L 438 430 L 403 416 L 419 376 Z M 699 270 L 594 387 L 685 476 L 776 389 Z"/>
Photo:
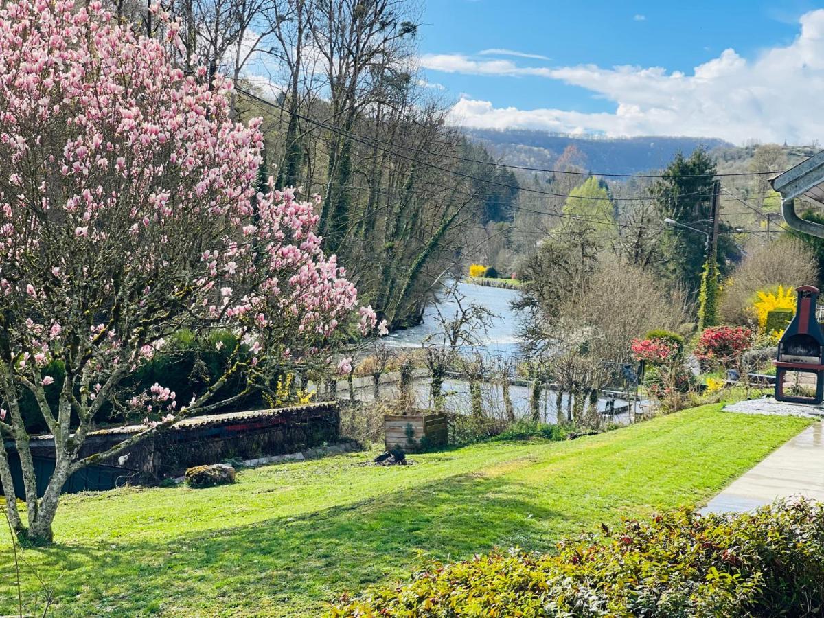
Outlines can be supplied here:
<path id="1" fill-rule="evenodd" d="M 824 138 L 794 98 L 821 101 L 824 2 L 427 0 L 422 21 L 424 78 L 462 124 Z"/>

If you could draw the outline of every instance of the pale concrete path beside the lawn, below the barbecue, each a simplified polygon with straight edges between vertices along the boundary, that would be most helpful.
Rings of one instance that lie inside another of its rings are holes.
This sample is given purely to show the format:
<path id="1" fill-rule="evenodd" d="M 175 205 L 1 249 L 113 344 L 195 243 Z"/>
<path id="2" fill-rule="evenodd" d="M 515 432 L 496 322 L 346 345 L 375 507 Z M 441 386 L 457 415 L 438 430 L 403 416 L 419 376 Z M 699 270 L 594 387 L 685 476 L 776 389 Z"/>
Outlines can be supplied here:
<path id="1" fill-rule="evenodd" d="M 812 424 L 724 489 L 701 513 L 743 513 L 793 495 L 824 500 L 824 428 Z"/>

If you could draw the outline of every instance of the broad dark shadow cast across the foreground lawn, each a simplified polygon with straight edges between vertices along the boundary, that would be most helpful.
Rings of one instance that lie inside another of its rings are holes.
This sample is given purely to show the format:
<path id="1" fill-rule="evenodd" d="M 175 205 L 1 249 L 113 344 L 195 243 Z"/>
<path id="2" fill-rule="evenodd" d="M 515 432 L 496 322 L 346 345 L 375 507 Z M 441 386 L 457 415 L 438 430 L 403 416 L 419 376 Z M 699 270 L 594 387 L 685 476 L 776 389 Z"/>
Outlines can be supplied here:
<path id="1" fill-rule="evenodd" d="M 459 559 L 493 545 L 550 548 L 547 522 L 564 513 L 535 500 L 534 488 L 505 477 L 465 475 L 353 507 L 180 531 L 169 543 L 53 545 L 37 563 L 58 616 L 316 616 L 340 592 L 407 577 L 421 552 Z"/>

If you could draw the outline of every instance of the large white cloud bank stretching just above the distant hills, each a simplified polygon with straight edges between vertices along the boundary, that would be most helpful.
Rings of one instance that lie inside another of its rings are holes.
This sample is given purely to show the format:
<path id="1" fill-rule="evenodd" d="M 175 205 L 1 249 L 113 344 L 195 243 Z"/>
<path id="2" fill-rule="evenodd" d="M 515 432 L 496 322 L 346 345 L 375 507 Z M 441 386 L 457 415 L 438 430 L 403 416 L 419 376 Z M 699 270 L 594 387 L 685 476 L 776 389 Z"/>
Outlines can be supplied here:
<path id="1" fill-rule="evenodd" d="M 592 64 L 531 68 L 461 54 L 428 54 L 421 63 L 446 73 L 559 80 L 616 105 L 615 111 L 590 114 L 501 108 L 490 101 L 462 97 L 452 110 L 452 120 L 474 127 L 809 143 L 824 138 L 824 9 L 803 15 L 800 25 L 800 34 L 789 45 L 766 49 L 751 60 L 726 49 L 695 67 L 692 74 L 660 67 L 600 68 Z"/>

